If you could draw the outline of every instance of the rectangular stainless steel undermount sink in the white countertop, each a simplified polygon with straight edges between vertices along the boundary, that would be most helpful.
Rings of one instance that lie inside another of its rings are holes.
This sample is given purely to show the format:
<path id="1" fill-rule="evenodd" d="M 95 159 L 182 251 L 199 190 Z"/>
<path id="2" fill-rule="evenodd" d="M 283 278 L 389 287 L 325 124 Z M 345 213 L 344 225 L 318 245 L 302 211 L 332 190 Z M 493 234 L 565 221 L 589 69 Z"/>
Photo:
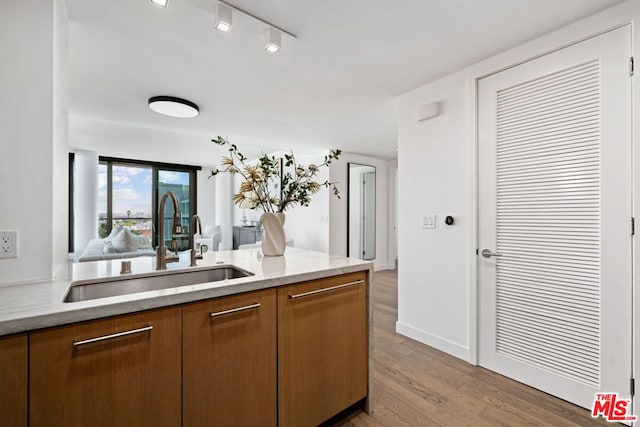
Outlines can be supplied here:
<path id="1" fill-rule="evenodd" d="M 176 271 L 162 275 L 132 276 L 116 278 L 115 280 L 103 279 L 78 284 L 71 283 L 71 287 L 62 301 L 86 301 L 247 276 L 253 276 L 253 273 L 233 266 L 219 266 L 193 271 Z"/>

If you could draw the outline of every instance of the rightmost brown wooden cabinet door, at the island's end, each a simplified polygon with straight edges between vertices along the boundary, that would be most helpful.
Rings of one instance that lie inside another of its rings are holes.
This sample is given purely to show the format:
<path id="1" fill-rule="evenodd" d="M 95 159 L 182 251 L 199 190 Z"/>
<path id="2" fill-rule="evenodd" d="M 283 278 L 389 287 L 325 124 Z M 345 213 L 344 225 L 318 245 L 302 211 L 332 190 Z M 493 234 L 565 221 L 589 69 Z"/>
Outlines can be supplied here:
<path id="1" fill-rule="evenodd" d="M 278 289 L 280 426 L 315 426 L 367 396 L 367 276 Z"/>

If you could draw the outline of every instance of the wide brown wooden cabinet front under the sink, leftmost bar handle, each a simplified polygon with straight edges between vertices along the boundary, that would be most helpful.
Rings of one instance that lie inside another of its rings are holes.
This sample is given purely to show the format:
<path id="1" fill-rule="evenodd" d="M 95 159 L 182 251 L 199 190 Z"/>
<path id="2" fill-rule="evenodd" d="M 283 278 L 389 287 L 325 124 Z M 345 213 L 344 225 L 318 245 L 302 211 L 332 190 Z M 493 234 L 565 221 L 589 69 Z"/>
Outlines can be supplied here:
<path id="1" fill-rule="evenodd" d="M 32 333 L 31 427 L 180 426 L 180 314 L 152 310 Z"/>

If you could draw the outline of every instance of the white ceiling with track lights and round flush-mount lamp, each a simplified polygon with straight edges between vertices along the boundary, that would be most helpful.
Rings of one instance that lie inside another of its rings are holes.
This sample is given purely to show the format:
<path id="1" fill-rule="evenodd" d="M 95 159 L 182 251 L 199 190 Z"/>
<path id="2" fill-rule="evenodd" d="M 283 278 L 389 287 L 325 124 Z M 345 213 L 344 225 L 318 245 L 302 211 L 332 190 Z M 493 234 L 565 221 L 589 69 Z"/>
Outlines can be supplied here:
<path id="1" fill-rule="evenodd" d="M 215 0 L 67 0 L 71 145 L 214 164 L 240 146 L 396 157 L 395 97 L 619 0 L 229 0 L 298 36 L 275 55 L 264 26 Z M 195 119 L 160 116 L 155 95 Z M 179 156 L 177 152 L 179 151 Z M 251 150 L 248 150 L 251 151 Z M 177 156 L 177 157 L 176 157 Z"/>

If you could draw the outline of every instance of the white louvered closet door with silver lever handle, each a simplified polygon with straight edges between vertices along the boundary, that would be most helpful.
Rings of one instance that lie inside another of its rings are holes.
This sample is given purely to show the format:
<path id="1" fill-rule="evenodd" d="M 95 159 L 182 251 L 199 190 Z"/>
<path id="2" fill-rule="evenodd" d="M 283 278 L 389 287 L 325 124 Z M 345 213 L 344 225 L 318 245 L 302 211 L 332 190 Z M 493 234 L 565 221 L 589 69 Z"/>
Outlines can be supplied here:
<path id="1" fill-rule="evenodd" d="M 478 85 L 480 365 L 591 408 L 629 395 L 630 29 Z"/>

